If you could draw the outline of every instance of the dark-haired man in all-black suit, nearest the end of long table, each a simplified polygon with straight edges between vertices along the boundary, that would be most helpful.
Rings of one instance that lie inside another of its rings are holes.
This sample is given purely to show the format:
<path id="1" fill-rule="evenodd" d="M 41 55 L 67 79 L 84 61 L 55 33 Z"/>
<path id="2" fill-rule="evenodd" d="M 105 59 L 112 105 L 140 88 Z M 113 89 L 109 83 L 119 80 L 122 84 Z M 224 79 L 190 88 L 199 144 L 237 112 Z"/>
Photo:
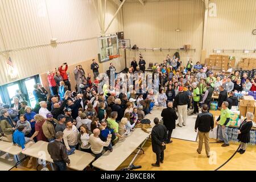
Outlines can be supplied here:
<path id="1" fill-rule="evenodd" d="M 166 149 L 167 129 L 164 125 L 159 124 L 159 119 L 154 119 L 155 126 L 152 129 L 152 150 L 156 154 L 156 163 L 151 164 L 154 167 L 160 167 L 164 160 L 164 150 Z"/>

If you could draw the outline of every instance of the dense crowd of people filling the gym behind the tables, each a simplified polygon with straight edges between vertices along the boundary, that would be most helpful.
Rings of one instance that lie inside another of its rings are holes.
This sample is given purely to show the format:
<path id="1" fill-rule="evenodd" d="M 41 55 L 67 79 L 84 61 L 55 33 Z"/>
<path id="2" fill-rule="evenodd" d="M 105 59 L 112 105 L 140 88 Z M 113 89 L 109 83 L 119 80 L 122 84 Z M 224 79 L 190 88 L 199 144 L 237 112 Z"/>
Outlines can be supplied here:
<path id="1" fill-rule="evenodd" d="M 126 79 L 116 76 L 114 84 L 110 83 L 110 79 L 100 78 L 99 65 L 95 60 L 90 66 L 94 81 L 91 80 L 91 73 L 86 77 L 82 66 L 77 65 L 73 71 L 76 91 L 71 91 L 67 75 L 68 65 L 64 63 L 55 69 L 55 72 L 48 72 L 51 94 L 48 94 L 42 84 L 34 85 L 34 108 L 28 106 L 26 98 L 22 96 L 14 97 L 14 104 L 11 106 L 2 104 L 0 139 L 14 142 L 23 150 L 26 150 L 24 144 L 28 141 L 49 142 L 48 152 L 53 162 L 57 169 L 64 170 L 66 163 L 70 163 L 68 155 L 72 155 L 75 150 L 90 152 L 96 159 L 100 158 L 104 151 L 112 152 L 114 144 L 132 133 L 134 127 L 141 123 L 154 107 L 167 107 L 162 111 L 167 132 L 167 135 L 162 136 L 165 146 L 172 142 L 171 134 L 175 129 L 175 120 L 179 119 L 178 126 L 183 127 L 186 125 L 188 110 L 193 110 L 189 114 L 196 114 L 199 113 L 199 107 L 204 105 L 203 111 L 208 112 L 214 91 L 220 92 L 218 108 L 221 110 L 221 116 L 217 121 L 222 127 L 228 126 L 229 107 L 238 104 L 235 93 L 256 90 L 256 77 L 251 83 L 246 74 L 240 78 L 238 72 L 231 75 L 226 75 L 224 71 L 213 73 L 209 66 L 203 66 L 199 62 L 193 66 L 192 60 L 188 61 L 184 69 L 177 53 L 174 57 L 167 55 L 162 64 L 155 64 L 152 68 L 153 75 L 147 78 L 143 77 L 145 64 L 142 56 L 139 57 L 139 64 L 134 58 Z M 109 71 L 115 72 L 113 63 L 110 63 Z M 159 76 L 158 82 L 155 74 Z M 150 80 L 156 82 L 152 83 Z M 133 85 L 127 84 L 128 82 Z M 155 83 L 158 85 L 154 85 Z M 157 120 L 154 121 L 156 124 L 159 123 Z M 202 132 L 209 132 L 208 128 Z M 224 146 L 228 146 L 225 127 L 219 130 L 221 131 L 220 139 L 224 140 Z M 62 140 L 64 144 L 61 143 Z M 246 142 L 242 150 L 245 150 L 245 147 Z M 159 166 L 159 162 L 163 160 L 163 150 L 156 150 L 160 152 L 157 154 L 159 159 L 153 166 Z M 58 152 L 63 156 L 57 155 L 60 154 Z M 201 152 L 201 148 L 198 152 Z M 209 156 L 209 150 L 207 155 Z"/>

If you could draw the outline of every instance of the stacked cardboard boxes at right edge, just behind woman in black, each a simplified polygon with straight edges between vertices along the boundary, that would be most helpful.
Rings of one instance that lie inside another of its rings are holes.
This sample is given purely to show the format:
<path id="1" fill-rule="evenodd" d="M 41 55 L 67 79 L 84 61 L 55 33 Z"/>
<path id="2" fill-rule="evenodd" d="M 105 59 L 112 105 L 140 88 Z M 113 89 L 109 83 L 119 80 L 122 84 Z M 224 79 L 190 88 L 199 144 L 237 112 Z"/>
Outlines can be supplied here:
<path id="1" fill-rule="evenodd" d="M 253 96 L 243 96 L 242 101 L 240 101 L 239 110 L 240 110 L 240 115 L 244 117 L 246 116 L 247 112 L 254 113 L 255 100 Z"/>

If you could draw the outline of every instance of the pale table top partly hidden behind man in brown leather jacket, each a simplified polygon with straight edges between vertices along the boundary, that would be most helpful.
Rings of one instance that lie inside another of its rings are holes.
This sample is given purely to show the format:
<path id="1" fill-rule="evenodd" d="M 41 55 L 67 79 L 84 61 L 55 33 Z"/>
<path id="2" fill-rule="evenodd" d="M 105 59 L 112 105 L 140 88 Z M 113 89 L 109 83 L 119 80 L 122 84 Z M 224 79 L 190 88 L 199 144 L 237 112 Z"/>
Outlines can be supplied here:
<path id="1" fill-rule="evenodd" d="M 53 160 L 51 159 L 51 156 L 47 151 L 47 146 L 48 142 L 39 141 L 33 144 L 31 147 L 27 148 L 26 150 L 22 151 L 22 154 L 53 163 Z M 67 167 L 77 171 L 82 171 L 94 160 L 95 157 L 87 152 L 75 150 L 75 154 L 69 155 L 68 158 L 71 162 L 70 165 Z"/>

